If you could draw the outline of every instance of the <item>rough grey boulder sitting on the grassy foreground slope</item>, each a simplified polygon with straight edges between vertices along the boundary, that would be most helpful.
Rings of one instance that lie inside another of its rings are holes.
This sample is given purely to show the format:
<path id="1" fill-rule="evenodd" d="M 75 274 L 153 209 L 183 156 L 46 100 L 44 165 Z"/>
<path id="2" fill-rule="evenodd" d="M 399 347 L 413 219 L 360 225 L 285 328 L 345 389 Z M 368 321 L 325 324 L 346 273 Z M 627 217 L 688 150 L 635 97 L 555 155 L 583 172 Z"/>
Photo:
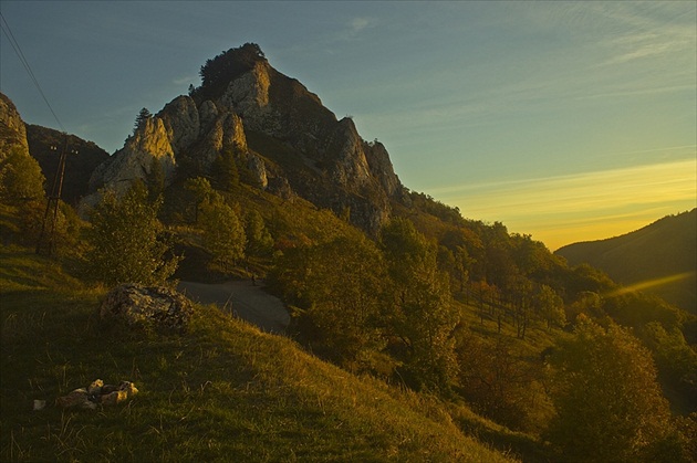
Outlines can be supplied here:
<path id="1" fill-rule="evenodd" d="M 193 313 L 191 302 L 176 291 L 133 283 L 116 286 L 100 307 L 103 320 L 121 319 L 127 326 L 164 333 L 186 332 Z"/>

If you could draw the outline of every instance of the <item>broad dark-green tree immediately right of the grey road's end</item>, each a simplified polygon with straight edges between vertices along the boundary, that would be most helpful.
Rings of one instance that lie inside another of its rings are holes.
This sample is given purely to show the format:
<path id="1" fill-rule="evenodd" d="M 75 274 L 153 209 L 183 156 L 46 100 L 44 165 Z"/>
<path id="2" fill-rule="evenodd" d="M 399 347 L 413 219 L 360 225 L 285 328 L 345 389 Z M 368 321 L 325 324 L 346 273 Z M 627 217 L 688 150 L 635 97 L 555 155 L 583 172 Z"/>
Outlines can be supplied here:
<path id="1" fill-rule="evenodd" d="M 375 244 L 355 233 L 287 250 L 274 278 L 294 305 L 304 344 L 352 370 L 372 369 L 382 350 L 385 264 Z"/>

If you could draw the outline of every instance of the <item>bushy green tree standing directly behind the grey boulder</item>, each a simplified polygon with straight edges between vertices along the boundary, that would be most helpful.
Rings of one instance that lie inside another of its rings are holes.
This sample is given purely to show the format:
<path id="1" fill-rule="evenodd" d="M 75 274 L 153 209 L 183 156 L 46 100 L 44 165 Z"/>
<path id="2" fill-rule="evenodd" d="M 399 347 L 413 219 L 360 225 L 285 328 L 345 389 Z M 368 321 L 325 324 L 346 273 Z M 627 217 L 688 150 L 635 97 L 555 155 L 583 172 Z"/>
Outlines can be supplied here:
<path id="1" fill-rule="evenodd" d="M 180 257 L 165 260 L 170 251 L 163 240 L 163 224 L 157 220 L 157 204 L 147 199 L 141 181 L 118 200 L 106 190 L 91 213 L 87 232 L 90 274 L 107 284 L 162 284 L 174 274 Z"/>

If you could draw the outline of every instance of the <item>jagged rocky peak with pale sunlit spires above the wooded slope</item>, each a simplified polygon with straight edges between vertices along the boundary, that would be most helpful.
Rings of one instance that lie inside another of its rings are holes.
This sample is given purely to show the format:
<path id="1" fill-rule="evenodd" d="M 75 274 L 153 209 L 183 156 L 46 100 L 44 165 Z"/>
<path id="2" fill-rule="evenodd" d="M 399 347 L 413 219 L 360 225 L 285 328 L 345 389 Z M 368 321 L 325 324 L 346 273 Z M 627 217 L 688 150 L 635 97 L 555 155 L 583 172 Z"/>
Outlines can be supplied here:
<path id="1" fill-rule="evenodd" d="M 97 168 L 91 188 L 123 192 L 145 179 L 157 159 L 171 182 L 209 175 L 231 150 L 254 183 L 321 208 L 350 212 L 375 232 L 404 188 L 379 143 L 366 143 L 350 118 L 337 120 L 300 82 L 274 70 L 254 44 L 232 49 L 201 67 L 202 85 L 145 120 L 124 147 Z M 92 197 L 92 201 L 96 196 Z M 89 202 L 89 201 L 87 201 Z"/>

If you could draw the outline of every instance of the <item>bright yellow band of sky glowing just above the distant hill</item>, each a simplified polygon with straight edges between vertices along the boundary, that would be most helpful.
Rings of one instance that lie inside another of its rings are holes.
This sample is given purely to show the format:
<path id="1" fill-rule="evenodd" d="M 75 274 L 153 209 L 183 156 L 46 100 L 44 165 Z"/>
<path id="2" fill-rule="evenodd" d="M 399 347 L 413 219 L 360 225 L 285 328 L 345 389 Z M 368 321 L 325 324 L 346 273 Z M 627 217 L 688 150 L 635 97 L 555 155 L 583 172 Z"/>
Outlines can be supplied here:
<path id="1" fill-rule="evenodd" d="M 697 159 L 434 192 L 467 218 L 501 221 L 555 250 L 628 233 L 697 207 Z"/>

